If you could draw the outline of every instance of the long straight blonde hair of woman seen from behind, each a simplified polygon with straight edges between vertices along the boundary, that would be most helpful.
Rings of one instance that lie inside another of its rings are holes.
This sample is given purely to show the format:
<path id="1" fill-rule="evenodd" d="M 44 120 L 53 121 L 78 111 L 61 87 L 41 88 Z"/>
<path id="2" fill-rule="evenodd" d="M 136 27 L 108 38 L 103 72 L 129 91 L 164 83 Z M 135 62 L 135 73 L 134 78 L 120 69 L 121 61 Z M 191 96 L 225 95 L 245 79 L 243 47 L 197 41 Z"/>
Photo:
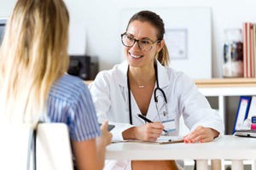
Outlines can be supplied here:
<path id="1" fill-rule="evenodd" d="M 0 48 L 0 115 L 35 123 L 69 64 L 69 15 L 62 0 L 18 0 Z"/>

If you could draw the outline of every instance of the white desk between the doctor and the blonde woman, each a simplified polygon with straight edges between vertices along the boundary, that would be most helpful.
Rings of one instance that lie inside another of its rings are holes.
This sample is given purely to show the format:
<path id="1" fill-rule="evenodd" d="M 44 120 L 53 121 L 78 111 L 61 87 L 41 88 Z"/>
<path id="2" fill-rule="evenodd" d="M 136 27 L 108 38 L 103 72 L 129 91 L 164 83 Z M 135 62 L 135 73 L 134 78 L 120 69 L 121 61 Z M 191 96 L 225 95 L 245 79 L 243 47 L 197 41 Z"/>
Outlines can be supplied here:
<path id="1" fill-rule="evenodd" d="M 242 160 L 256 160 L 256 139 L 224 135 L 203 144 L 115 143 L 107 147 L 108 160 L 195 159 L 197 169 L 208 169 L 207 160 L 232 160 L 232 170 L 242 170 Z"/>

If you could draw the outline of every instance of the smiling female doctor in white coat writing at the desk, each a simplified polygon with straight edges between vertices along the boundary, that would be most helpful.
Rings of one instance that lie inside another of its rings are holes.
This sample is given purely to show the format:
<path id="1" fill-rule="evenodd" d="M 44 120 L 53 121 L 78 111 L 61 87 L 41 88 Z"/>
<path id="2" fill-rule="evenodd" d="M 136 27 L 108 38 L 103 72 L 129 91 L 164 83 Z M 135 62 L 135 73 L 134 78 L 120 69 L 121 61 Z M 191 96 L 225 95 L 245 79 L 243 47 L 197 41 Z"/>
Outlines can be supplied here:
<path id="1" fill-rule="evenodd" d="M 131 17 L 121 34 L 125 62 L 101 71 L 89 86 L 98 121 L 108 120 L 116 125 L 113 139 L 155 140 L 163 130 L 179 135 L 179 119 L 183 116 L 190 129 L 185 143 L 210 142 L 223 132 L 223 122 L 195 83 L 183 72 L 167 66 L 164 33 L 163 20 L 154 12 L 141 11 Z M 138 115 L 152 122 L 147 123 Z M 111 168 L 165 167 L 177 169 L 175 161 L 116 161 Z"/>

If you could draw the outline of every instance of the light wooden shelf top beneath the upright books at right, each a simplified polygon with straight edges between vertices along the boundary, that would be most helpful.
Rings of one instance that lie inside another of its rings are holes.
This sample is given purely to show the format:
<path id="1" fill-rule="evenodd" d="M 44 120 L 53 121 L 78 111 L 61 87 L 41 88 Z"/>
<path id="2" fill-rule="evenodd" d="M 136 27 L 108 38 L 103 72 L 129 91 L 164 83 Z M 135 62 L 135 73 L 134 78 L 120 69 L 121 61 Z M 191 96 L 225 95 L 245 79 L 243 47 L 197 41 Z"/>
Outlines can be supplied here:
<path id="1" fill-rule="evenodd" d="M 256 78 L 212 78 L 195 80 L 199 88 L 256 87 Z"/>

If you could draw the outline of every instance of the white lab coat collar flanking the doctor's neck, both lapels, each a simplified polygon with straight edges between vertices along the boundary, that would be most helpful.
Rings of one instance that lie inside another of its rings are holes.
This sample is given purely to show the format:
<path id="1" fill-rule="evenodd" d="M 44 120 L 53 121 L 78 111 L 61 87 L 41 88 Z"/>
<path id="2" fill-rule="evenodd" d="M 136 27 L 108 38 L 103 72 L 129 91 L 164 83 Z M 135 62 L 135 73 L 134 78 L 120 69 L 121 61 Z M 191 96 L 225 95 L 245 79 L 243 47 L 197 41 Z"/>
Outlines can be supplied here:
<path id="1" fill-rule="evenodd" d="M 165 66 L 161 65 L 158 60 L 157 62 L 157 69 L 158 69 L 158 82 L 160 88 L 165 88 L 169 83 L 169 77 L 168 72 Z M 119 77 L 119 85 L 122 87 L 127 87 L 127 69 L 128 69 L 128 63 L 125 60 L 120 65 L 117 66 L 117 69 L 119 70 L 118 77 Z"/>

